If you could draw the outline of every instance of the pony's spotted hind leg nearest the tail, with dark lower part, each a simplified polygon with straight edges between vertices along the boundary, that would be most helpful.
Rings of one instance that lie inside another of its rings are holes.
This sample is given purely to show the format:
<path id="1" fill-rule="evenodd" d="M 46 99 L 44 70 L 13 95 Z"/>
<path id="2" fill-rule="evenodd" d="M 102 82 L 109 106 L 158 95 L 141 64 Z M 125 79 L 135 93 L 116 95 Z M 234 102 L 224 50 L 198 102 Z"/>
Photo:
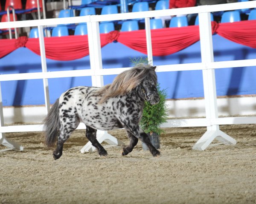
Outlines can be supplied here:
<path id="1" fill-rule="evenodd" d="M 67 122 L 67 120 L 69 122 Z M 79 118 L 77 116 L 68 116 L 61 118 L 60 134 L 58 136 L 57 147 L 53 152 L 53 158 L 59 159 L 62 155 L 63 144 L 69 139 L 71 133 L 76 130 L 79 125 Z"/>

